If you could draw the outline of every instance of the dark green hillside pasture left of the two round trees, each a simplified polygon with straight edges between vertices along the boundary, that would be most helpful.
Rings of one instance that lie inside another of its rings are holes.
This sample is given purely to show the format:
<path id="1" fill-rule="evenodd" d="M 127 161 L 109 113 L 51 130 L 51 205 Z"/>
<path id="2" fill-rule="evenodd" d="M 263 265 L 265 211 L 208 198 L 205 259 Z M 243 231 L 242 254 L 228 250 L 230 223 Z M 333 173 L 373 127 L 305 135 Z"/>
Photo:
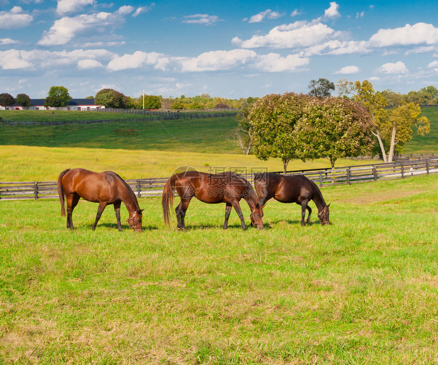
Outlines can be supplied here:
<path id="1" fill-rule="evenodd" d="M 229 117 L 4 127 L 0 129 L 0 145 L 239 153 L 237 145 L 225 139 L 236 125 Z"/>

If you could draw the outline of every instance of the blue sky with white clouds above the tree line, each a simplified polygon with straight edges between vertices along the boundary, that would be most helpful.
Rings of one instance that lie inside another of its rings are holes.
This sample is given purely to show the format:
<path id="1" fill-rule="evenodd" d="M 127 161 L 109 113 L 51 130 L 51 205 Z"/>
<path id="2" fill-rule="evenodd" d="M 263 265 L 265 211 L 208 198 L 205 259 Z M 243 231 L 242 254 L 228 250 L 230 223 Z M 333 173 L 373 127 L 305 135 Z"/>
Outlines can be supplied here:
<path id="1" fill-rule="evenodd" d="M 438 2 L 0 0 L 0 93 L 240 98 L 438 87 Z"/>

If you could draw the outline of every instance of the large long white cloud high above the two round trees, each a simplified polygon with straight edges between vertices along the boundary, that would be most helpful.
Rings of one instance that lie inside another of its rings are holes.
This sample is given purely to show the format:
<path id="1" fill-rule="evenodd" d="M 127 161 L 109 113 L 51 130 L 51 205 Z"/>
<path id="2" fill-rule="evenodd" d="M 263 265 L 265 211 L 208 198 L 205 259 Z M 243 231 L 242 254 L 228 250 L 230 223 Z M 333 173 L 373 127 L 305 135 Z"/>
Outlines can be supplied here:
<path id="1" fill-rule="evenodd" d="M 296 48 L 319 44 L 333 35 L 335 31 L 322 23 L 296 21 L 288 25 L 274 27 L 267 35 L 256 35 L 247 41 L 235 37 L 232 43 L 241 48 L 273 47 Z"/>

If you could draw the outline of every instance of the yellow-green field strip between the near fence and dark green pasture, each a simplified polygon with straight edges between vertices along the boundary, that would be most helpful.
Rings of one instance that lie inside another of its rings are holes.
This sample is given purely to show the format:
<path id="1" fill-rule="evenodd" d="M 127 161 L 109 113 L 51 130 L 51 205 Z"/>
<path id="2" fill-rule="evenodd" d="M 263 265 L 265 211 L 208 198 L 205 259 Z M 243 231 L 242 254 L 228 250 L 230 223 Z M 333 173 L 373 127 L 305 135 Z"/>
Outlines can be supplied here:
<path id="1" fill-rule="evenodd" d="M 336 166 L 364 164 L 364 160 L 339 160 Z M 376 162 L 376 161 L 374 161 Z M 378 161 L 377 161 L 378 162 Z M 253 155 L 146 150 L 48 148 L 0 146 L 0 181 L 54 181 L 61 171 L 84 167 L 92 171 L 115 171 L 124 179 L 169 177 L 181 168 L 202 172 L 239 173 L 283 171 L 280 159 L 258 160 Z M 288 170 L 324 169 L 329 160 L 291 161 Z"/>

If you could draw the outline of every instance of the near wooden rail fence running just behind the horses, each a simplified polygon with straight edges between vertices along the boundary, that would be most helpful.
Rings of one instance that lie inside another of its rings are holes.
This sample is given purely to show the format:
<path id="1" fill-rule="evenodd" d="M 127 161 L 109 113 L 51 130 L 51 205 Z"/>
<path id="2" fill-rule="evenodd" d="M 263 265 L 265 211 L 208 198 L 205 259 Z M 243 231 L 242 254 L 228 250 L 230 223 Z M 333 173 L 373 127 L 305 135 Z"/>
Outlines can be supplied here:
<path id="1" fill-rule="evenodd" d="M 366 181 L 404 179 L 410 176 L 438 173 L 438 158 L 419 161 L 377 163 L 371 165 L 348 166 L 341 169 L 299 170 L 286 175 L 305 175 L 319 187 L 330 185 L 350 185 Z M 253 174 L 242 177 L 253 183 Z M 140 198 L 161 196 L 168 178 L 126 180 Z M 0 200 L 58 198 L 55 181 L 0 182 Z"/>

